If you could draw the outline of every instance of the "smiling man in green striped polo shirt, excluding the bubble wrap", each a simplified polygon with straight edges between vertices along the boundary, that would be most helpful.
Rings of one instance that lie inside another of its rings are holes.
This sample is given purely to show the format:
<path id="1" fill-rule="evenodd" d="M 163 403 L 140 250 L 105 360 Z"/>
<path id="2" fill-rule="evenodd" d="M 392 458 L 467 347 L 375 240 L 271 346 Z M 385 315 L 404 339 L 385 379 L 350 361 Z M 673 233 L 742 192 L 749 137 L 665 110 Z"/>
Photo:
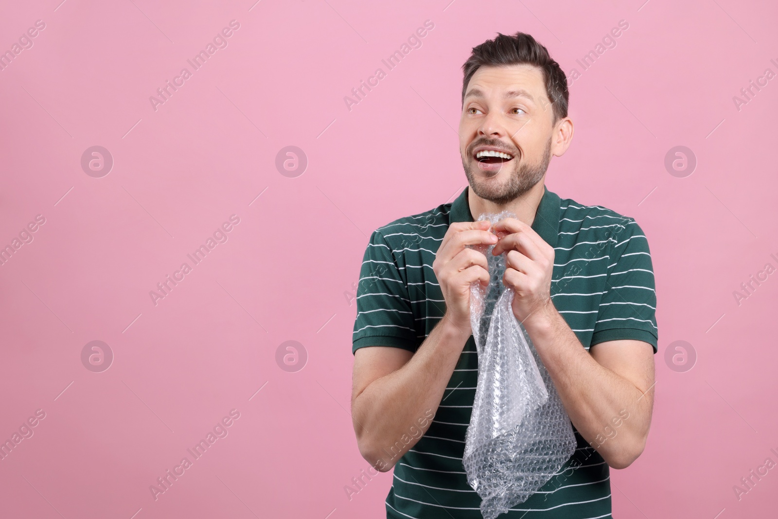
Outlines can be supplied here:
<path id="1" fill-rule="evenodd" d="M 611 517 L 609 467 L 645 447 L 657 352 L 654 272 L 631 218 L 545 188 L 573 139 L 566 76 L 533 37 L 499 34 L 464 64 L 460 153 L 469 187 L 370 237 L 357 291 L 352 417 L 359 451 L 394 467 L 387 517 L 481 517 L 462 466 L 478 380 L 470 286 L 506 252 L 513 314 L 554 381 L 577 449 L 499 517 Z M 474 222 L 510 210 L 489 232 Z"/>

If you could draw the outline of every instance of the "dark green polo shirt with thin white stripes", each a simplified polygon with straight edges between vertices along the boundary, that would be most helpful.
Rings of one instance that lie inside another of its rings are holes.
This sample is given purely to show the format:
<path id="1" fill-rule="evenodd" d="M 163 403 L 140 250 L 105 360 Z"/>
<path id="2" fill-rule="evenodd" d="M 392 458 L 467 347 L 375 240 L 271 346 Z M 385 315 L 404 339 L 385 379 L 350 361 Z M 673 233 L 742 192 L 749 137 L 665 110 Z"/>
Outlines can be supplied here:
<path id="1" fill-rule="evenodd" d="M 359 275 L 353 352 L 366 346 L 419 348 L 445 313 L 432 267 L 436 251 L 451 223 L 471 221 L 466 188 L 454 202 L 373 232 Z M 654 269 L 647 239 L 634 219 L 560 199 L 545 189 L 532 229 L 554 247 L 552 300 L 585 349 L 636 339 L 657 352 Z M 429 430 L 394 465 L 387 517 L 482 517 L 481 498 L 462 466 L 477 380 L 478 353 L 471 336 L 438 409 L 432 410 Z M 499 517 L 612 517 L 608 465 L 578 431 L 575 435 L 576 451 L 559 472 Z M 384 452 L 392 452 L 390 447 Z"/>

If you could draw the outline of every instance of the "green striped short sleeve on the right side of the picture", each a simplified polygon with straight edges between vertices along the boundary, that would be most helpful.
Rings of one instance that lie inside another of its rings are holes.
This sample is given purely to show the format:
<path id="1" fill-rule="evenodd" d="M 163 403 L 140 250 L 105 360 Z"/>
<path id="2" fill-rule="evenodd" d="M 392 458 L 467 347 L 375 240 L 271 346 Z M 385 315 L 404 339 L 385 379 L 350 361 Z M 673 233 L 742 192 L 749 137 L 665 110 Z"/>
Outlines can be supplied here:
<path id="1" fill-rule="evenodd" d="M 591 345 L 633 339 L 648 342 L 656 353 L 654 267 L 646 235 L 634 219 L 628 220 L 610 237 L 614 244 Z"/>

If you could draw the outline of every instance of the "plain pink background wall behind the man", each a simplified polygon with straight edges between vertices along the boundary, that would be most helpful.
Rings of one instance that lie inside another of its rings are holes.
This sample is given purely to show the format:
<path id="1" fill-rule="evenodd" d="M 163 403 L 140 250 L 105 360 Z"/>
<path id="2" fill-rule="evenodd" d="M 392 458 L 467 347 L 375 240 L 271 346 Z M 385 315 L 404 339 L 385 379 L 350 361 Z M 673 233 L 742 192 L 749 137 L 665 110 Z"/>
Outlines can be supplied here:
<path id="1" fill-rule="evenodd" d="M 778 461 L 778 275 L 733 296 L 778 267 L 778 79 L 732 100 L 778 72 L 772 2 L 59 2 L 0 17 L 0 51 L 46 24 L 0 71 L 0 245 L 46 219 L 0 267 L 0 440 L 46 413 L 0 461 L 0 516 L 381 517 L 391 474 L 344 490 L 368 466 L 348 412 L 367 237 L 464 188 L 454 128 L 471 47 L 522 30 L 582 72 L 621 19 L 616 47 L 570 86 L 576 136 L 547 179 L 635 217 L 654 258 L 654 423 L 640 459 L 612 471 L 614 515 L 775 513 L 778 470 L 739 501 L 732 488 Z M 155 111 L 149 96 L 232 19 L 228 46 Z M 349 110 L 378 67 L 387 77 Z M 107 176 L 82 170 L 90 146 L 113 156 Z M 285 146 L 306 154 L 300 176 L 276 169 Z M 664 168 L 674 146 L 696 155 L 688 177 Z M 149 291 L 233 214 L 229 240 L 155 306 Z M 102 373 L 82 365 L 93 340 L 114 352 Z M 288 340 L 303 370 L 276 363 Z M 665 362 L 676 340 L 696 350 L 692 370 Z M 230 409 L 229 435 L 154 500 Z"/>

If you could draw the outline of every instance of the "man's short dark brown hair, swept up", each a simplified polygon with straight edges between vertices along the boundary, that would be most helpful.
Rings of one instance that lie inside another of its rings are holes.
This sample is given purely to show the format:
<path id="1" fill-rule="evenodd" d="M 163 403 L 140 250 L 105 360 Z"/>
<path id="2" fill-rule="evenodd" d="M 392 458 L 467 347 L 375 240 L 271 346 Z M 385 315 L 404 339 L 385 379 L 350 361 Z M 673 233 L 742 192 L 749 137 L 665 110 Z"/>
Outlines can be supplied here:
<path id="1" fill-rule="evenodd" d="M 513 36 L 497 33 L 494 40 L 473 47 L 468 61 L 462 65 L 464 80 L 462 82 L 462 105 L 468 82 L 482 65 L 534 65 L 540 68 L 545 82 L 545 92 L 551 100 L 554 109 L 554 123 L 567 117 L 569 92 L 567 76 L 559 63 L 548 54 L 548 50 L 527 33 L 516 33 Z"/>

